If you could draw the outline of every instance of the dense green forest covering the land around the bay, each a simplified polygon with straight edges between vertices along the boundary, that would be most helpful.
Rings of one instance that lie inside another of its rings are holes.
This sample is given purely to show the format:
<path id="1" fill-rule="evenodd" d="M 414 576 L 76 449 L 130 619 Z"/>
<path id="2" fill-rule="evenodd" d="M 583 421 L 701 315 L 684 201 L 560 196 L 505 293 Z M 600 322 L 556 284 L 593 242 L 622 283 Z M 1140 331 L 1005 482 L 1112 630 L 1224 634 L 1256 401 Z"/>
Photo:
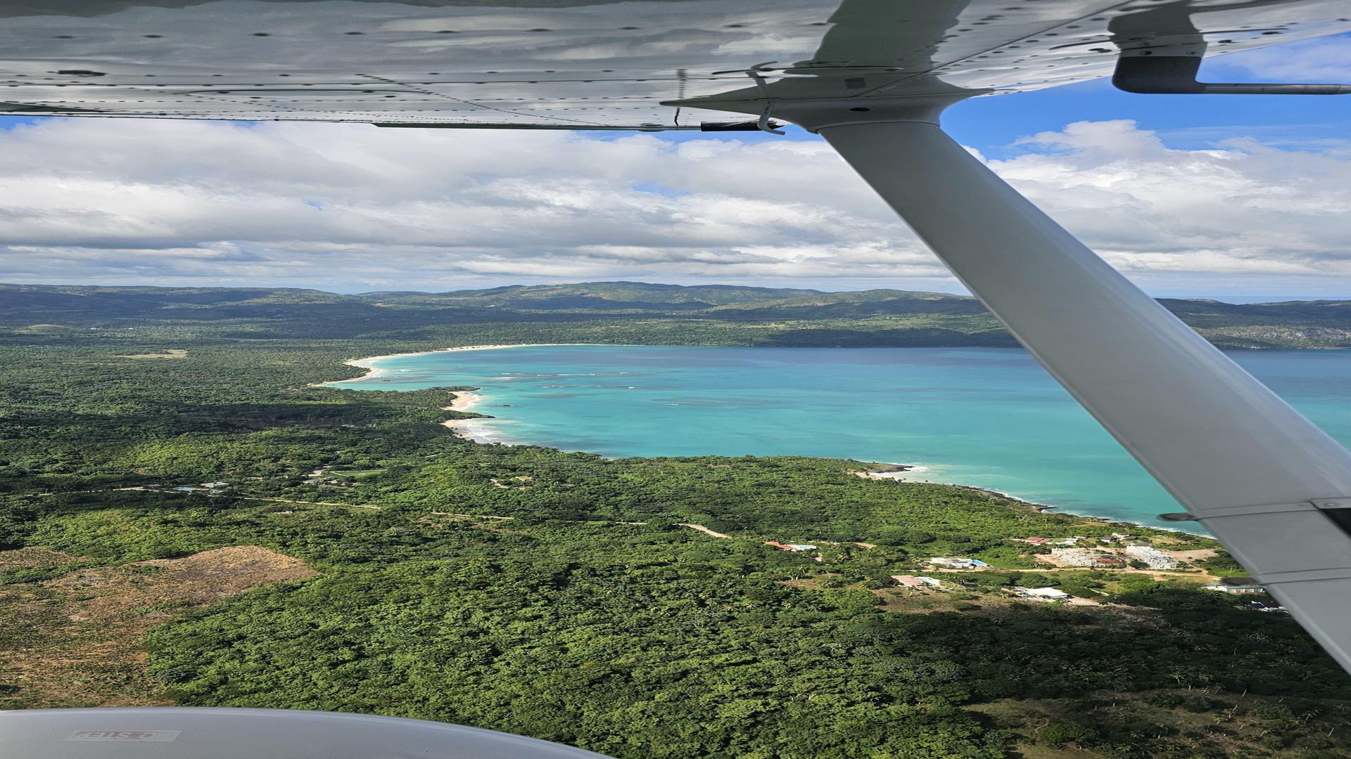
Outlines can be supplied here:
<path id="1" fill-rule="evenodd" d="M 361 371 L 345 359 L 454 344 L 808 344 L 782 315 L 708 313 L 828 300 L 667 290 L 654 313 L 643 288 L 536 292 L 624 315 L 528 311 L 519 290 L 0 293 L 0 708 L 349 710 L 619 758 L 1351 756 L 1351 679 L 1288 616 L 1200 589 L 1242 574 L 1223 551 L 1167 577 L 1052 573 L 1015 540 L 1128 529 L 1217 550 L 1206 538 L 857 477 L 866 462 L 478 444 L 439 424 L 455 388 L 315 386 Z M 936 320 L 1005 344 L 969 298 L 897 298 L 934 313 L 809 321 L 842 343 L 921 344 Z M 231 547 L 312 571 L 69 613 Z M 942 592 L 890 579 L 944 555 L 990 566 L 935 575 Z M 80 671 L 53 666 L 70 651 Z"/>

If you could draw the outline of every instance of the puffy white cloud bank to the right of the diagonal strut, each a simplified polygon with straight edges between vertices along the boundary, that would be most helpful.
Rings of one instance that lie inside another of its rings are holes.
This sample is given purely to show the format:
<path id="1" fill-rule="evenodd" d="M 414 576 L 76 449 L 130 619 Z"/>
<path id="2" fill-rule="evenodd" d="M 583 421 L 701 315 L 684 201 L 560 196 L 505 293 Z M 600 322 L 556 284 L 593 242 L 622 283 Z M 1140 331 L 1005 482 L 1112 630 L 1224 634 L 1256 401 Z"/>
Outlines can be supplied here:
<path id="1" fill-rule="evenodd" d="M 1079 122 L 992 167 L 1125 271 L 1351 274 L 1351 159 L 1231 139 L 1175 150 Z"/>

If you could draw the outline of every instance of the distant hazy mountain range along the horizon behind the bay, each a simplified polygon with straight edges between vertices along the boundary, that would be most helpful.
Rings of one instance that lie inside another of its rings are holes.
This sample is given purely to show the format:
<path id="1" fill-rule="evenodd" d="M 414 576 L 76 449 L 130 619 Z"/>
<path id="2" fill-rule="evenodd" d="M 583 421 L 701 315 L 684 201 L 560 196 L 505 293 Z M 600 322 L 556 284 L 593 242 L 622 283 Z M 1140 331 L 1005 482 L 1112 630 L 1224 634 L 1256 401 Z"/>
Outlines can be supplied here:
<path id="1" fill-rule="evenodd" d="M 1351 301 L 1227 304 L 1161 298 L 1166 308 L 1228 347 L 1351 347 Z M 626 325 L 642 340 L 643 324 L 673 342 L 680 324 L 690 342 L 739 344 L 1012 344 L 973 297 L 908 290 L 821 292 L 738 285 L 581 282 L 513 285 L 424 293 L 389 290 L 336 294 L 295 288 L 149 288 L 3 285 L 0 325 L 23 331 L 112 327 L 124 323 L 266 324 L 265 331 L 304 336 L 430 335 L 442 325 L 558 324 L 573 331 Z M 697 325 L 697 328 L 694 328 Z M 715 327 L 716 325 L 716 330 Z M 811 338 L 797 342 L 797 332 Z M 709 335 L 720 335 L 713 339 Z M 742 334 L 744 340 L 738 338 Z M 766 335 L 771 340 L 763 340 Z M 635 336 L 636 335 L 636 336 Z"/>

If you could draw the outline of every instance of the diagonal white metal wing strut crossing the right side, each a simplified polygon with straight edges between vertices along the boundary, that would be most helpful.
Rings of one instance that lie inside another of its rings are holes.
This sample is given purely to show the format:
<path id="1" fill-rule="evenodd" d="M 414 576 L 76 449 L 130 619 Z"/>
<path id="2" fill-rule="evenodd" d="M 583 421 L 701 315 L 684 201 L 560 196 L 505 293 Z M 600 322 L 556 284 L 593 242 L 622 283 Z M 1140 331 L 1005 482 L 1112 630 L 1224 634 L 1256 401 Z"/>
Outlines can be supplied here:
<path id="1" fill-rule="evenodd" d="M 852 111 L 780 113 L 821 134 L 1351 670 L 1351 452 L 954 142 L 935 108 Z"/>

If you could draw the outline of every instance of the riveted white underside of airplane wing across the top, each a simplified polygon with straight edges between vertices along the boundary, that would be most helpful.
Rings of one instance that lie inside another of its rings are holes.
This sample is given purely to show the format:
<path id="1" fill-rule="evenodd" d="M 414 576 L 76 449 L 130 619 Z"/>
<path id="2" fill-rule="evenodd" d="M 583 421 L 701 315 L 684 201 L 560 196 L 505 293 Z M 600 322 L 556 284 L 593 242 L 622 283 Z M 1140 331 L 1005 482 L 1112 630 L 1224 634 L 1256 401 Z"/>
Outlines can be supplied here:
<path id="1" fill-rule="evenodd" d="M 1005 95 L 1111 76 L 1123 50 L 1217 55 L 1347 16 L 1343 0 L 0 0 L 0 113 L 681 128 L 725 120 L 712 109 L 754 95 L 748 70 L 789 100 Z"/>

